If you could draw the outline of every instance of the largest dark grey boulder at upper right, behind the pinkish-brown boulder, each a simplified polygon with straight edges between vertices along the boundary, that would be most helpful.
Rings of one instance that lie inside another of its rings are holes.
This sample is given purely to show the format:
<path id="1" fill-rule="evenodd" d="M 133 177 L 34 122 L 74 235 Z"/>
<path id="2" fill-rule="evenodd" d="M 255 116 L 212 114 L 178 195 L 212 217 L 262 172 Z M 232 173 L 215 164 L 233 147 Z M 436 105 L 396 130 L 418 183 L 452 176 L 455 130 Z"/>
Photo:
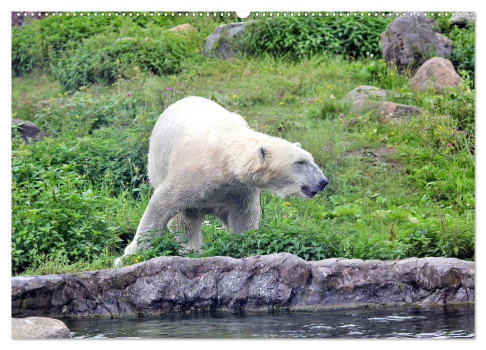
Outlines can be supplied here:
<path id="1" fill-rule="evenodd" d="M 438 26 L 425 16 L 401 16 L 381 33 L 380 46 L 386 62 L 399 71 L 415 68 L 428 57 L 447 57 L 452 40 L 438 32 Z"/>

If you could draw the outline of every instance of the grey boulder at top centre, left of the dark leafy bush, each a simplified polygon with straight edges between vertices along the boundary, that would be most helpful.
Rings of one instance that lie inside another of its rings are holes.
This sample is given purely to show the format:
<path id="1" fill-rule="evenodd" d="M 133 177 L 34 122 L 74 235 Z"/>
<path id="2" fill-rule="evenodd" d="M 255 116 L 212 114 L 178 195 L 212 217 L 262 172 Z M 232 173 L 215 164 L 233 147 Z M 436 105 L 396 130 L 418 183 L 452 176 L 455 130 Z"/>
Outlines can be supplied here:
<path id="1" fill-rule="evenodd" d="M 254 21 L 218 25 L 203 42 L 204 54 L 224 59 L 235 56 L 239 50 L 239 39 Z"/>

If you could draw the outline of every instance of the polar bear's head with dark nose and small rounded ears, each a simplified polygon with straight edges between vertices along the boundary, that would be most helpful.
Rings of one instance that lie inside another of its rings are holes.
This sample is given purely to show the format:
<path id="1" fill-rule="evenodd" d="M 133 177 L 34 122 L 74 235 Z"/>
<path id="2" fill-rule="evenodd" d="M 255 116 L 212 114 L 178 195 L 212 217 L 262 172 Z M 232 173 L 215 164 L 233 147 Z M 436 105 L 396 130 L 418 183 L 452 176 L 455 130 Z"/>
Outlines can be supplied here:
<path id="1" fill-rule="evenodd" d="M 327 177 L 312 155 L 300 147 L 300 143 L 280 140 L 257 149 L 263 165 L 262 188 L 281 197 L 314 197 L 326 187 L 329 182 Z"/>

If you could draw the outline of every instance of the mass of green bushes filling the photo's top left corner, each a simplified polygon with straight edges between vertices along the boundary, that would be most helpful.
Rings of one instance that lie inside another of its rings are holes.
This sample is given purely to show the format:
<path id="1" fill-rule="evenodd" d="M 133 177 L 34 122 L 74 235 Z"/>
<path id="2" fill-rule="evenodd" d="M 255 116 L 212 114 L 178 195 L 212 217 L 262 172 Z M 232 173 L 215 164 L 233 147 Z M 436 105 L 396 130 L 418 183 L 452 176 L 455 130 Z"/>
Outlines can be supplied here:
<path id="1" fill-rule="evenodd" d="M 181 35 L 167 33 L 167 27 L 180 21 L 179 17 L 167 20 L 149 16 L 49 16 L 34 20 L 12 28 L 12 72 L 23 75 L 35 68 L 52 72 L 60 64 L 68 64 L 59 73 L 68 89 L 98 80 L 114 81 L 133 64 L 142 71 L 171 74 L 180 70 L 181 54 L 194 50 L 204 35 L 190 33 L 184 40 Z M 205 32 L 208 30 L 206 23 L 199 24 Z M 131 36 L 137 39 L 115 42 Z M 71 82 L 70 74 L 74 75 Z"/>

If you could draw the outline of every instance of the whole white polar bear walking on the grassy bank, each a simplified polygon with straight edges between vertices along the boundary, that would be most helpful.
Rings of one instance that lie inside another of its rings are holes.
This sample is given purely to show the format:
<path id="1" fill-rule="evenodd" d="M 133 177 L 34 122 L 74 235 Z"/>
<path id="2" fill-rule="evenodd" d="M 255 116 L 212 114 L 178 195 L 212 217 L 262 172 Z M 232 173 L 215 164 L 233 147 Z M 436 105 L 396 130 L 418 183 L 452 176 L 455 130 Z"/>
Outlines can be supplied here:
<path id="1" fill-rule="evenodd" d="M 240 115 L 196 96 L 162 113 L 148 158 L 154 193 L 124 255 L 135 253 L 166 225 L 185 231 L 186 248 L 199 249 L 205 215 L 234 232 L 256 229 L 261 189 L 312 198 L 328 183 L 300 143 L 254 131 Z"/>

